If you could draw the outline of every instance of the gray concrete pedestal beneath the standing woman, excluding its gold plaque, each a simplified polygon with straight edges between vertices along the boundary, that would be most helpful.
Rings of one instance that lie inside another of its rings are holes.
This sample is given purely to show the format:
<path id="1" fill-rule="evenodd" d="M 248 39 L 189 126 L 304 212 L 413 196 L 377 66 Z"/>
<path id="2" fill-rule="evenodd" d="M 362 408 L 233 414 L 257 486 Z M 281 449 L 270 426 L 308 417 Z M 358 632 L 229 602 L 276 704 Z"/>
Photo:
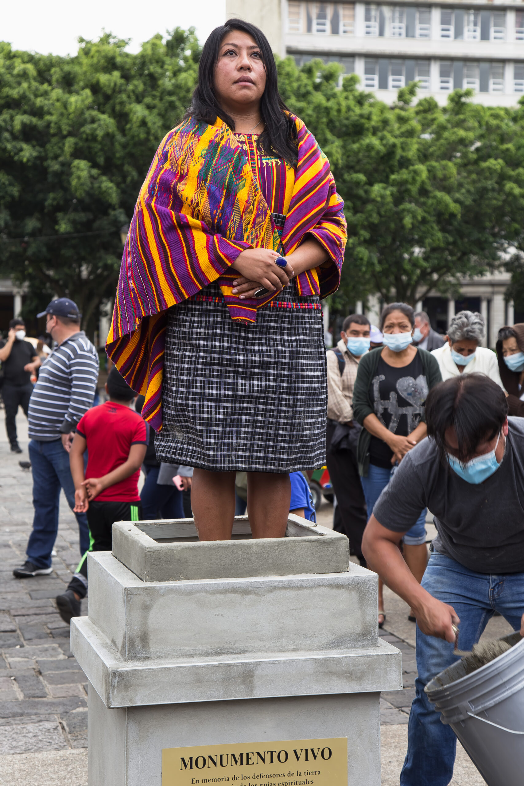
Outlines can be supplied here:
<path id="1" fill-rule="evenodd" d="M 113 553 L 89 555 L 71 649 L 90 681 L 90 786 L 174 786 L 166 748 L 340 737 L 348 786 L 379 786 L 379 696 L 401 688 L 401 653 L 378 637 L 376 575 L 295 516 L 287 538 L 251 541 L 245 517 L 233 534 L 119 523 Z"/>

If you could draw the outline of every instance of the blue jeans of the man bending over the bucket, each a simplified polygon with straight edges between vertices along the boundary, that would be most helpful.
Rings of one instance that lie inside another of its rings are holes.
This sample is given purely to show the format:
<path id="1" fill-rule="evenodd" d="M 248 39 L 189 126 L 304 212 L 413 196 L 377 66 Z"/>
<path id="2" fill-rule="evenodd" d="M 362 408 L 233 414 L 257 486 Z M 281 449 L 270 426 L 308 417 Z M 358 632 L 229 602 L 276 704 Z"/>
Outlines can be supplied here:
<path id="1" fill-rule="evenodd" d="M 475 573 L 449 556 L 431 553 L 422 586 L 439 601 L 453 606 L 460 617 L 458 646 L 470 650 L 478 641 L 493 612 L 520 629 L 524 612 L 524 573 L 489 575 Z M 427 700 L 424 686 L 436 674 L 460 660 L 453 644 L 416 629 L 416 696 L 408 726 L 408 753 L 401 772 L 401 786 L 447 786 L 453 777 L 456 736 L 440 720 Z"/>

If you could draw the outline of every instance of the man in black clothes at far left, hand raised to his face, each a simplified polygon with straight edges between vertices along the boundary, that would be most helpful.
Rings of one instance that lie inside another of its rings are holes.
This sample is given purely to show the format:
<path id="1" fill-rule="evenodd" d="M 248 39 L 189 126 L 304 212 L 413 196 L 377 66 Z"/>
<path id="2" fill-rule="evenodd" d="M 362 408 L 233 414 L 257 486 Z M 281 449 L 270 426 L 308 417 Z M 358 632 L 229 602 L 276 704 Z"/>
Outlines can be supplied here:
<path id="1" fill-rule="evenodd" d="M 24 338 L 24 320 L 15 318 L 9 322 L 7 341 L 2 342 L 0 346 L 5 430 L 13 453 L 22 452 L 16 437 L 16 413 L 18 412 L 18 407 L 21 406 L 27 417 L 29 399 L 33 390 L 31 373 L 34 373 L 38 365 L 40 365 L 40 359 L 35 352 L 35 347 L 29 341 L 24 341 Z"/>

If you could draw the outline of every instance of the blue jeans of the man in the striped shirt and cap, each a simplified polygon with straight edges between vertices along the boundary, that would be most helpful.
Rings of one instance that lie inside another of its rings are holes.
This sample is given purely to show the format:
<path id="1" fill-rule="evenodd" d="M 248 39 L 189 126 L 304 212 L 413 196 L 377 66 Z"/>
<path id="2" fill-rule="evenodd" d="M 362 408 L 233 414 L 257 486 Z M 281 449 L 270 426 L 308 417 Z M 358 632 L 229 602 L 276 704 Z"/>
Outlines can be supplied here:
<path id="1" fill-rule="evenodd" d="M 29 459 L 33 472 L 35 518 L 27 543 L 27 559 L 36 567 L 51 567 L 51 552 L 57 539 L 60 489 L 71 510 L 75 507 L 75 484 L 69 468 L 69 454 L 61 439 L 41 442 L 31 439 Z M 85 513 L 75 513 L 79 523 L 80 554 L 89 549 L 89 527 Z"/>

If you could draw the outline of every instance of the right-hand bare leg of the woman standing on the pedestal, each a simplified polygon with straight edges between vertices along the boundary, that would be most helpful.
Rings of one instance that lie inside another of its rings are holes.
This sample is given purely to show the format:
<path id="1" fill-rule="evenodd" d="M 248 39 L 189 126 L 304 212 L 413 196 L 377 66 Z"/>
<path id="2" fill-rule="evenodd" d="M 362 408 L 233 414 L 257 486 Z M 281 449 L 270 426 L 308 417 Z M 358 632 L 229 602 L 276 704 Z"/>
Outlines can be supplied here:
<path id="1" fill-rule="evenodd" d="M 254 538 L 284 538 L 290 502 L 288 474 L 247 472 L 247 516 Z"/>

